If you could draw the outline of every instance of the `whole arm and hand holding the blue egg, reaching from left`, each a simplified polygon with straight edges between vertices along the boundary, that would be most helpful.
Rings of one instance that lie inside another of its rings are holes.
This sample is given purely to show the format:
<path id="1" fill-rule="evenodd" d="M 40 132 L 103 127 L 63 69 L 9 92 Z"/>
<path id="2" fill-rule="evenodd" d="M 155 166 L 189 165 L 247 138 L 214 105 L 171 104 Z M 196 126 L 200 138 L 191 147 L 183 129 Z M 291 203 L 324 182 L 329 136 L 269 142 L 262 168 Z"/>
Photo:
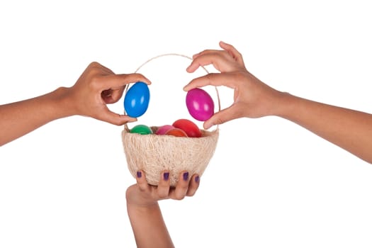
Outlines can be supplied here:
<path id="1" fill-rule="evenodd" d="M 108 110 L 123 95 L 125 84 L 145 81 L 140 74 L 114 74 L 97 62 L 89 64 L 74 86 L 60 87 L 43 96 L 0 106 L 0 146 L 26 135 L 52 120 L 84 115 L 115 125 L 135 118 Z"/>

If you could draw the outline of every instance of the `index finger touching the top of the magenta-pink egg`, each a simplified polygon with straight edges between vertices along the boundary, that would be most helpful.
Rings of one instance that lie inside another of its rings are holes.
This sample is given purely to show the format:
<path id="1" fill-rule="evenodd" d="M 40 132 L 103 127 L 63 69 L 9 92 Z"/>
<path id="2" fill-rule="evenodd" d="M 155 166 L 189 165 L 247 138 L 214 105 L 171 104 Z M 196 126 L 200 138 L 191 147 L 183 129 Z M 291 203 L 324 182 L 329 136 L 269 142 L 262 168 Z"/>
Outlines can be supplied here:
<path id="1" fill-rule="evenodd" d="M 190 83 L 184 86 L 184 91 L 189 91 L 193 88 L 203 87 L 207 85 L 223 85 L 234 89 L 237 82 L 237 79 L 234 79 L 233 75 L 229 73 L 209 73 L 205 76 L 191 80 Z"/>

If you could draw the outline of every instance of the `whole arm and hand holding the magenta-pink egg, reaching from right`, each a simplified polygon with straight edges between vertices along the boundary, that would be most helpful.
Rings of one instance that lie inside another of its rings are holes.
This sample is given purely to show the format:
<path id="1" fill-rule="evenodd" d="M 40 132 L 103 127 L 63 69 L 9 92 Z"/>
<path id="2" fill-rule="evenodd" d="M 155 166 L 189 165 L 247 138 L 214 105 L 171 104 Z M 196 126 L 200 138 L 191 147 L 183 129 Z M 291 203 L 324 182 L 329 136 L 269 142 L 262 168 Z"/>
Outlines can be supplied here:
<path id="1" fill-rule="evenodd" d="M 259 118 L 276 115 L 286 118 L 334 143 L 357 157 L 372 163 L 372 115 L 338 106 L 330 106 L 277 91 L 250 74 L 242 55 L 226 43 L 223 50 L 205 50 L 193 56 L 187 68 L 194 72 L 198 67 L 213 64 L 221 73 L 193 79 L 186 91 L 205 85 L 228 86 L 235 89 L 234 103 L 215 113 L 204 123 L 204 128 L 236 118 Z"/>

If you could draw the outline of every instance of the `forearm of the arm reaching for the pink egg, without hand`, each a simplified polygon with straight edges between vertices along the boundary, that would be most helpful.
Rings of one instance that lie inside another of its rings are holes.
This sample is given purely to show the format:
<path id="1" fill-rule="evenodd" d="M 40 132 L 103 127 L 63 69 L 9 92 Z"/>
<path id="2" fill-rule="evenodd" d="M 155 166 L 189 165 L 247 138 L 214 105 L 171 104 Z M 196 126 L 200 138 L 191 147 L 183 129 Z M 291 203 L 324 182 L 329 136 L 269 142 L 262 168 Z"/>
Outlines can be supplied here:
<path id="1" fill-rule="evenodd" d="M 372 115 L 285 94 L 278 116 L 372 163 Z"/>

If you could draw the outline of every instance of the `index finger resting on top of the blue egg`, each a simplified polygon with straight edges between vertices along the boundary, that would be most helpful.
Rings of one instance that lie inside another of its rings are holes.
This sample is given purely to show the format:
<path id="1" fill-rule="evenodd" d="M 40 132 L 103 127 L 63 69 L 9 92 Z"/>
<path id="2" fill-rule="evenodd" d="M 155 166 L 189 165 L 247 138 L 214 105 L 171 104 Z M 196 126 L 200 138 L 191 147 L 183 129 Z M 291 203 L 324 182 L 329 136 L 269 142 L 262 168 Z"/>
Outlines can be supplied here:
<path id="1" fill-rule="evenodd" d="M 101 90 L 108 88 L 119 88 L 125 84 L 143 81 L 145 84 L 151 84 L 151 81 L 142 74 L 111 74 L 104 77 L 99 77 L 97 80 Z"/>

